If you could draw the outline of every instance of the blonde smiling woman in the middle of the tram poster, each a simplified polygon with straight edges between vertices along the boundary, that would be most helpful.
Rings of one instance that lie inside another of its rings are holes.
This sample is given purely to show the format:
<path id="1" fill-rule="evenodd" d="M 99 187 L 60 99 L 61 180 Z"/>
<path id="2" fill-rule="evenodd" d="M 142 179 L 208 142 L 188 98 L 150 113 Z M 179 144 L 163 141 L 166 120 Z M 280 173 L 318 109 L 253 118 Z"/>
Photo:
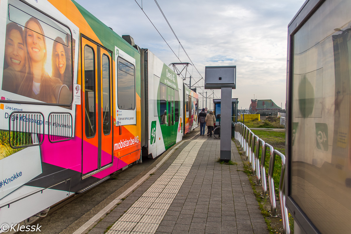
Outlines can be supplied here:
<path id="1" fill-rule="evenodd" d="M 24 44 L 27 50 L 26 75 L 18 94 L 48 103 L 68 104 L 71 94 L 58 78 L 51 78 L 45 71 L 47 58 L 46 40 L 39 21 L 32 17 L 25 25 Z"/>

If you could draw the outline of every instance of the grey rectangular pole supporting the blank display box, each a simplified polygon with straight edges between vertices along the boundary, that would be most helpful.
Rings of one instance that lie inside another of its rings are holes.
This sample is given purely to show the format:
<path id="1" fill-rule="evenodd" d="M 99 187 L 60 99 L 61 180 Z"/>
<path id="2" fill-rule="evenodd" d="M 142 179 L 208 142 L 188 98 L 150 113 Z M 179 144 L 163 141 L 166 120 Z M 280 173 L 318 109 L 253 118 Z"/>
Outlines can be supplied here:
<path id="1" fill-rule="evenodd" d="M 232 141 L 232 88 L 221 88 L 220 101 L 220 160 L 231 160 Z"/>

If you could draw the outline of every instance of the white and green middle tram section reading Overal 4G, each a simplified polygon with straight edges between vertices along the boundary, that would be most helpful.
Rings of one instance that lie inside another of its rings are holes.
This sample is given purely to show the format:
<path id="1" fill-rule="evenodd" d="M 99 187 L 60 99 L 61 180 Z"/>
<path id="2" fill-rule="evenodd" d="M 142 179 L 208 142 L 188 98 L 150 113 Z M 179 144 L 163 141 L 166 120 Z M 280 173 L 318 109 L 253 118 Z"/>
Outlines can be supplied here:
<path id="1" fill-rule="evenodd" d="M 141 49 L 141 57 L 146 107 L 142 134 L 147 141 L 143 149 L 155 158 L 183 137 L 183 80 L 148 49 Z"/>

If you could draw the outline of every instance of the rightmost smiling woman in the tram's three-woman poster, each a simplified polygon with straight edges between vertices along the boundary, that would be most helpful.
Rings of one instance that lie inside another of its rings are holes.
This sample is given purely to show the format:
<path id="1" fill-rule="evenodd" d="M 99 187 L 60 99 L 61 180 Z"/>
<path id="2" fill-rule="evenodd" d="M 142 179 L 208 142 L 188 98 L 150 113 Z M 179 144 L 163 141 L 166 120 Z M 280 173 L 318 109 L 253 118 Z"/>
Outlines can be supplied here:
<path id="1" fill-rule="evenodd" d="M 66 43 L 59 36 L 52 48 L 52 76 L 59 78 L 69 90 L 72 90 L 71 52 Z"/>

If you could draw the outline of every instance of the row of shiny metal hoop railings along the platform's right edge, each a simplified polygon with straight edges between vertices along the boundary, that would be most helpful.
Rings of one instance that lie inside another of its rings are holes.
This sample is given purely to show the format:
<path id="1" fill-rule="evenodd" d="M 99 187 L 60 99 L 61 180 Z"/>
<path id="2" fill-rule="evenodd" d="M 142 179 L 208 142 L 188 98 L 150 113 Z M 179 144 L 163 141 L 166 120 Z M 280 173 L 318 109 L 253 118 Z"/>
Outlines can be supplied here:
<path id="1" fill-rule="evenodd" d="M 249 165 L 252 169 L 252 175 L 256 175 L 256 184 L 262 186 L 262 195 L 267 194 L 267 183 L 266 183 L 266 152 L 267 148 L 270 151 L 269 166 L 268 166 L 268 185 L 269 195 L 271 202 L 271 213 L 273 217 L 277 216 L 276 208 L 276 194 L 274 192 L 274 181 L 273 172 L 274 165 L 276 163 L 276 155 L 282 159 L 282 170 L 280 172 L 279 181 L 279 201 L 280 209 L 282 210 L 282 221 L 283 221 L 283 234 L 290 234 L 289 216 L 287 208 L 285 206 L 285 183 L 284 183 L 284 172 L 285 172 L 285 156 L 270 144 L 260 139 L 255 135 L 250 128 L 245 126 L 243 123 L 235 123 L 235 140 L 240 144 L 240 147 L 245 153 L 245 160 L 249 161 Z M 261 149 L 261 157 L 260 156 Z"/>

